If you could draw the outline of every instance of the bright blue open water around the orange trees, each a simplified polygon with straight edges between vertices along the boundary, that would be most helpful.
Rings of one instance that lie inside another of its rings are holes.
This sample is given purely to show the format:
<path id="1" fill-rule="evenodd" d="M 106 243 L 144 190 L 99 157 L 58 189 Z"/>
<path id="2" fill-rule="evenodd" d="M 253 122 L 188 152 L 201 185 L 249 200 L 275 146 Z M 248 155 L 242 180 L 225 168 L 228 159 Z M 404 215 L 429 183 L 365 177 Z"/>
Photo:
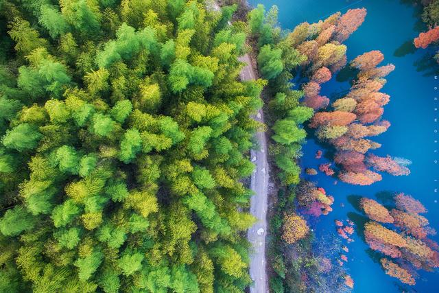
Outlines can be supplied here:
<path id="1" fill-rule="evenodd" d="M 385 56 L 383 64 L 390 62 L 396 66 L 396 70 L 388 75 L 388 83 L 382 90 L 391 96 L 390 104 L 385 106 L 383 118 L 390 121 L 392 126 L 388 132 L 375 137 L 375 141 L 382 144 L 379 150 L 375 150 L 375 154 L 391 154 L 412 160 L 412 174 L 383 174 L 381 182 L 368 187 L 344 183 L 334 185 L 334 178 L 320 172 L 318 176 L 307 176 L 309 180 L 318 181 L 328 194 L 335 197 L 333 212 L 321 217 L 316 225 L 316 234 L 333 233 L 335 219 L 345 220 L 348 213 L 358 213 L 348 202 L 348 196 L 375 198 L 380 191 L 411 194 L 427 207 L 427 218 L 431 226 L 439 230 L 439 203 L 435 202 L 439 200 L 439 194 L 434 191 L 439 188 L 438 182 L 434 181 L 439 180 L 439 164 L 434 163 L 435 159 L 439 159 L 439 152 L 434 152 L 435 147 L 439 150 L 439 143 L 434 143 L 435 139 L 439 139 L 438 134 L 434 133 L 435 127 L 439 128 L 434 121 L 435 113 L 436 117 L 439 116 L 438 111 L 434 110 L 435 106 L 439 107 L 439 102 L 434 101 L 435 95 L 439 97 L 439 91 L 434 89 L 439 86 L 439 79 L 435 80 L 434 75 L 429 74 L 429 70 L 422 66 L 416 66 L 422 64 L 419 60 L 425 56 L 427 50 L 404 55 L 405 46 L 402 46 L 413 40 L 419 30 L 423 30 L 416 16 L 416 8 L 398 0 L 251 0 L 250 3 L 263 3 L 266 8 L 277 5 L 279 22 L 284 29 L 289 30 L 303 21 L 316 22 L 333 12 L 364 7 L 368 10 L 366 21 L 345 42 L 348 46 L 348 60 L 366 51 L 378 49 Z M 348 88 L 347 82 L 332 80 L 322 86 L 322 95 L 329 97 Z M 317 169 L 318 164 L 326 162 L 326 159 L 314 159 L 314 154 L 319 149 L 322 147 L 316 145 L 312 139 L 308 141 L 304 147 L 302 167 Z M 439 240 L 438 236 L 432 238 L 436 242 Z M 366 253 L 366 244 L 356 233 L 354 239 L 355 242 L 348 244 L 349 261 L 345 265 L 355 281 L 354 292 L 399 292 L 396 287 L 399 282 L 386 275 L 379 263 L 372 261 Z M 417 283 L 412 288 L 417 292 L 439 292 L 439 274 L 421 270 Z"/>

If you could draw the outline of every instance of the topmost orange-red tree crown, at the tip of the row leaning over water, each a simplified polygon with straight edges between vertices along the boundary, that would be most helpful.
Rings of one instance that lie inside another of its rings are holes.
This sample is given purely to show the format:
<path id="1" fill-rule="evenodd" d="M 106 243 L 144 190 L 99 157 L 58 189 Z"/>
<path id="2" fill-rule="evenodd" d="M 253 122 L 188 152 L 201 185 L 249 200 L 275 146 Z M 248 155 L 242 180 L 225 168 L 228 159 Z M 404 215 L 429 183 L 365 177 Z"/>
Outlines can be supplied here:
<path id="1" fill-rule="evenodd" d="M 342 15 L 335 26 L 335 40 L 342 43 L 363 23 L 366 17 L 366 9 L 350 9 Z"/>

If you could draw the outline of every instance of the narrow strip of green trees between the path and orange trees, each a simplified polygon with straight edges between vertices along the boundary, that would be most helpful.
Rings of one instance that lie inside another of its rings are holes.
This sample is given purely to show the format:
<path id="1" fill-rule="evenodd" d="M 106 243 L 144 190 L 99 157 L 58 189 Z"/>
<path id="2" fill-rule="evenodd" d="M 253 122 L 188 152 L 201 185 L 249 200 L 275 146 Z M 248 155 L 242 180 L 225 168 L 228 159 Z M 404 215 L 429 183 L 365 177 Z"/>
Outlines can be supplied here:
<path id="1" fill-rule="evenodd" d="M 306 137 L 301 124 L 312 117 L 313 110 L 299 106 L 303 93 L 292 90 L 292 72 L 307 57 L 294 48 L 292 38 L 281 32 L 277 12 L 276 6 L 265 12 L 263 5 L 258 5 L 248 14 L 248 24 L 259 47 L 259 73 L 269 81 L 267 124 L 273 130 L 270 155 L 278 167 L 281 183 L 289 185 L 299 181 L 300 167 L 296 160 L 301 156 L 300 143 Z"/>

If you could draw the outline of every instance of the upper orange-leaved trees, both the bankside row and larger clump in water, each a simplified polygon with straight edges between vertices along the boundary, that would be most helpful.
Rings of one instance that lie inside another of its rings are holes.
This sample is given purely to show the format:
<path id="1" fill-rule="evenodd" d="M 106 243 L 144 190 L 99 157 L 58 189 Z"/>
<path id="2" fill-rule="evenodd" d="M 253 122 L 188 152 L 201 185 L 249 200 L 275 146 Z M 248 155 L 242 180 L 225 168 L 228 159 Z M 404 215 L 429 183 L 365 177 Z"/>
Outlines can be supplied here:
<path id="1" fill-rule="evenodd" d="M 346 62 L 346 46 L 339 45 L 340 43 L 334 40 L 339 42 L 345 40 L 361 25 L 364 16 L 366 16 L 365 9 L 348 10 L 341 17 L 340 14 L 334 14 L 324 23 L 318 23 L 315 26 L 320 28 L 318 40 L 305 41 L 298 46 L 302 54 L 309 56 L 309 60 L 312 59 L 310 61 L 312 66 L 307 69 L 311 75 L 310 82 L 303 86 L 306 106 L 319 110 L 327 108 L 329 105 L 329 99 L 320 95 L 320 84 L 331 79 L 331 72 L 334 72 L 331 65 Z M 302 40 L 305 40 L 305 37 Z M 328 43 L 330 40 L 333 42 Z M 329 141 L 337 153 L 342 152 L 342 154 L 337 154 L 334 159 L 335 163 L 341 167 L 339 178 L 345 183 L 370 185 L 381 180 L 381 175 L 372 172 L 368 167 L 374 167 L 376 171 L 389 172 L 394 175 L 410 173 L 403 165 L 405 163 L 401 164 L 395 160 L 389 160 L 390 156 L 383 159 L 369 156 L 371 159 L 367 164 L 364 160 L 364 154 L 368 150 L 381 147 L 379 143 L 366 139 L 366 137 L 379 135 L 390 126 L 388 121 L 380 122 L 384 113 L 383 106 L 388 104 L 390 96 L 379 91 L 386 82 L 383 77 L 394 70 L 394 65 L 377 67 L 383 59 L 381 51 L 369 51 L 357 56 L 351 62 L 352 67 L 359 69 L 351 91 L 332 104 L 332 111 L 325 110 L 316 113 L 309 123 L 310 128 L 318 128 L 316 131 L 318 139 Z M 353 154 L 353 158 L 343 158 L 344 154 Z M 330 176 L 335 172 L 327 164 L 320 165 L 319 169 Z"/>

